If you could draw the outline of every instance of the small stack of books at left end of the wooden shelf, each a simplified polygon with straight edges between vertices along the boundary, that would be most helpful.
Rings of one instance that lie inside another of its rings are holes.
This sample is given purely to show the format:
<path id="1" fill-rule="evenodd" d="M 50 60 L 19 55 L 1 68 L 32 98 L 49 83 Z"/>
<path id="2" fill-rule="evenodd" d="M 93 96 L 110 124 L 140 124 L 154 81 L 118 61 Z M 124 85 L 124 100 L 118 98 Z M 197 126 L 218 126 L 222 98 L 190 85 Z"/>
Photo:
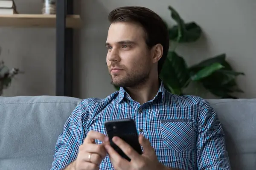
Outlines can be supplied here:
<path id="1" fill-rule="evenodd" d="M 0 0 L 0 14 L 18 14 L 13 0 Z"/>

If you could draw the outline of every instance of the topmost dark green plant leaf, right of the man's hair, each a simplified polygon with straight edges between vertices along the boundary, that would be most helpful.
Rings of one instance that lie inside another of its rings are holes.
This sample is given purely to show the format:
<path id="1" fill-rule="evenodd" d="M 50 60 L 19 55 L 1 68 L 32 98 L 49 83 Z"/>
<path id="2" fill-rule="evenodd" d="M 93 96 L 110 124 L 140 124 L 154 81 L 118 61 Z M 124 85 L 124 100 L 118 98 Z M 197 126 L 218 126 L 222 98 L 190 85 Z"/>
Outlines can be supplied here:
<path id="1" fill-rule="evenodd" d="M 200 26 L 195 22 L 185 24 L 178 12 L 172 8 L 172 6 L 169 6 L 169 10 L 171 11 L 171 17 L 177 23 L 177 26 L 169 29 L 170 40 L 177 42 L 195 42 L 200 38 L 202 34 Z"/>

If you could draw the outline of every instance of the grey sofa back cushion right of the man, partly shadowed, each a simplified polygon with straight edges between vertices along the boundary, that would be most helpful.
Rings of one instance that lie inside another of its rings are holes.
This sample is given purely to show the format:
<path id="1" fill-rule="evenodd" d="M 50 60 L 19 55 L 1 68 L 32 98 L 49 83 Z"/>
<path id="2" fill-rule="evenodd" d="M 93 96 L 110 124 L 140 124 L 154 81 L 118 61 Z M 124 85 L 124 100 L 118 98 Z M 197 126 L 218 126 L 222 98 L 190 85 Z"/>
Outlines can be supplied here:
<path id="1" fill-rule="evenodd" d="M 226 135 L 232 170 L 256 169 L 256 99 L 210 99 Z"/>

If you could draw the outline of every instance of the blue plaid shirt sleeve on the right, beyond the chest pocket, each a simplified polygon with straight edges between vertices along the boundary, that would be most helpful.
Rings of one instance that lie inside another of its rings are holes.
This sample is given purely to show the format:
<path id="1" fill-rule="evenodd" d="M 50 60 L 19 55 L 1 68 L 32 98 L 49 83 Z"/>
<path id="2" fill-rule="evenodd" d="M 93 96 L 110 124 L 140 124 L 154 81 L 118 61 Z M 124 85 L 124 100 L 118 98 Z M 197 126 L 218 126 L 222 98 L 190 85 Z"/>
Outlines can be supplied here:
<path id="1" fill-rule="evenodd" d="M 201 99 L 198 115 L 197 164 L 200 170 L 230 170 L 225 135 L 214 109 Z"/>

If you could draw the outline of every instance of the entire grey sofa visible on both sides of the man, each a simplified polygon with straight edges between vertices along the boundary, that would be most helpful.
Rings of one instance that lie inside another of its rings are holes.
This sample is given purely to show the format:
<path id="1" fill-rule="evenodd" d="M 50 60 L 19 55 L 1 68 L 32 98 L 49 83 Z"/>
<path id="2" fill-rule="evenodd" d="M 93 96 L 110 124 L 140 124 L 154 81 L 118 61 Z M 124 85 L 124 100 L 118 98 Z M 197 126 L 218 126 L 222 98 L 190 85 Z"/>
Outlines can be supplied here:
<path id="1" fill-rule="evenodd" d="M 81 99 L 0 97 L 0 170 L 49 170 L 55 142 Z M 226 133 L 233 170 L 256 170 L 256 99 L 208 100 Z"/>

